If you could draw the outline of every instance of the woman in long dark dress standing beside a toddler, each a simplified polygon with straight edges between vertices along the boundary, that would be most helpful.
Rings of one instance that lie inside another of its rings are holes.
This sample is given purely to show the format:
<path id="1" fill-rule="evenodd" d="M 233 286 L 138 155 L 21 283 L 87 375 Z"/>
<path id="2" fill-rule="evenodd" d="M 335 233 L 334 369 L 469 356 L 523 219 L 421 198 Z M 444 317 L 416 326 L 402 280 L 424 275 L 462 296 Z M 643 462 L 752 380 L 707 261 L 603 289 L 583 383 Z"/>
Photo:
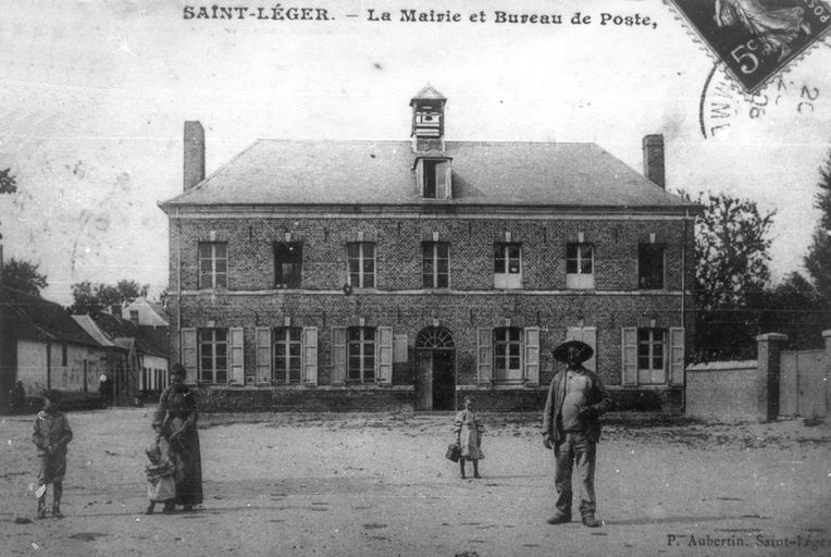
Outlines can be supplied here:
<path id="1" fill-rule="evenodd" d="M 159 397 L 153 429 L 170 444 L 176 466 L 176 505 L 191 510 L 202 503 L 202 457 L 199 450 L 196 399 L 185 385 L 185 368 L 173 366 L 171 385 Z"/>

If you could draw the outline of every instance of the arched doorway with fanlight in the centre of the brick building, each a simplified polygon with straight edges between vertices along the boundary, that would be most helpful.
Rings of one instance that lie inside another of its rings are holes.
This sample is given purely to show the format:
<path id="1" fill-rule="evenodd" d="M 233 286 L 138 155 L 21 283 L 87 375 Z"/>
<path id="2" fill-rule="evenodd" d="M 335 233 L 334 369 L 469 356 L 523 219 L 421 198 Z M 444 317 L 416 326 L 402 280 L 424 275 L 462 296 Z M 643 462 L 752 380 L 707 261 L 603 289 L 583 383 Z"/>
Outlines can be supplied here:
<path id="1" fill-rule="evenodd" d="M 443 326 L 423 329 L 416 337 L 416 409 L 454 410 L 456 346 Z"/>

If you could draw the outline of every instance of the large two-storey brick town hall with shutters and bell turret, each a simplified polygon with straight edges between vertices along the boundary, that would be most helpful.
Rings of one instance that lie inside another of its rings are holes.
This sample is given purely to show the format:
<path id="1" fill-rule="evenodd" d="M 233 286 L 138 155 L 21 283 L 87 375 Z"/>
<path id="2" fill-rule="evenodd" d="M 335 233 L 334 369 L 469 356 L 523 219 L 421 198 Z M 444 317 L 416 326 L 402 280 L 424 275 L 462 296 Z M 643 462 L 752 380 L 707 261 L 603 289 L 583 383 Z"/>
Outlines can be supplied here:
<path id="1" fill-rule="evenodd" d="M 559 343 L 621 408 L 683 400 L 693 221 L 594 144 L 456 141 L 447 99 L 409 139 L 258 140 L 206 177 L 186 122 L 170 219 L 171 361 L 224 409 L 539 409 Z"/>

